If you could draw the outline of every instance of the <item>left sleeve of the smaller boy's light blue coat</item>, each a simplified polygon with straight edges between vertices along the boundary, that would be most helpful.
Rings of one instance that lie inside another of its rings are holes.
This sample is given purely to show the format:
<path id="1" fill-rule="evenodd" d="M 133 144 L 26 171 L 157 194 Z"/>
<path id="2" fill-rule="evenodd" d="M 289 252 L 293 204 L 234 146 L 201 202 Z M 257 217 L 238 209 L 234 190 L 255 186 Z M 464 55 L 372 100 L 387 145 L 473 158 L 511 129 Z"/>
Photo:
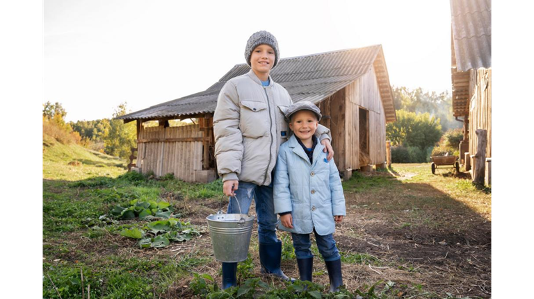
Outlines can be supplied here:
<path id="1" fill-rule="evenodd" d="M 287 170 L 286 148 L 287 143 L 280 146 L 280 151 L 278 151 L 278 158 L 276 161 L 273 190 L 275 214 L 293 211 L 293 205 L 291 205 L 291 191 L 289 190 L 289 172 Z"/>

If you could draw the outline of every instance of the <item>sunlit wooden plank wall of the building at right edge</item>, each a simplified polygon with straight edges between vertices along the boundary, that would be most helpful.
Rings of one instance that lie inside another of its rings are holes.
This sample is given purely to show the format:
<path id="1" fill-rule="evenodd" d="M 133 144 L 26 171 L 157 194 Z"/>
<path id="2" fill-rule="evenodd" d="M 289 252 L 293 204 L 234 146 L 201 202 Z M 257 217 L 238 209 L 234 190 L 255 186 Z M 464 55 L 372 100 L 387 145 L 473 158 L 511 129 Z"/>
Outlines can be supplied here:
<path id="1" fill-rule="evenodd" d="M 476 154 L 476 130 L 487 130 L 487 157 L 492 157 L 492 69 L 471 72 L 471 103 L 469 104 L 469 153 Z"/>

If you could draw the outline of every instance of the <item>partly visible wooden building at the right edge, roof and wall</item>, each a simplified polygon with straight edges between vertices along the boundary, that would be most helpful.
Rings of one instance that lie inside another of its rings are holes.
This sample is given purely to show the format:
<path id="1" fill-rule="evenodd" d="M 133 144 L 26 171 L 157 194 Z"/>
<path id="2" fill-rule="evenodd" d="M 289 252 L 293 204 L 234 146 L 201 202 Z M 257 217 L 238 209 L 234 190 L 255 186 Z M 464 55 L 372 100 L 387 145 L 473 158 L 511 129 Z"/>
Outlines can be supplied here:
<path id="1" fill-rule="evenodd" d="M 492 1 L 451 0 L 453 114 L 464 121 L 460 162 L 492 181 Z"/>

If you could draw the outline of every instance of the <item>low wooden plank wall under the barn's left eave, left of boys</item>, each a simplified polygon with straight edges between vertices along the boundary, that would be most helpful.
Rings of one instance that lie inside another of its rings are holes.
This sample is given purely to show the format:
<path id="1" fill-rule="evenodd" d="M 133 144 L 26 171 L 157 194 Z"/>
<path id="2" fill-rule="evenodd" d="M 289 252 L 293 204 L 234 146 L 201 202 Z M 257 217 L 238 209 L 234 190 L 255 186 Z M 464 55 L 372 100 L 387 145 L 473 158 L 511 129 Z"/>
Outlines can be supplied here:
<path id="1" fill-rule="evenodd" d="M 200 125 L 144 128 L 138 140 L 184 137 L 204 137 Z M 195 182 L 196 171 L 202 170 L 202 142 L 138 142 L 138 166 L 143 173 L 154 171 L 156 176 L 174 173 L 175 178 Z"/>

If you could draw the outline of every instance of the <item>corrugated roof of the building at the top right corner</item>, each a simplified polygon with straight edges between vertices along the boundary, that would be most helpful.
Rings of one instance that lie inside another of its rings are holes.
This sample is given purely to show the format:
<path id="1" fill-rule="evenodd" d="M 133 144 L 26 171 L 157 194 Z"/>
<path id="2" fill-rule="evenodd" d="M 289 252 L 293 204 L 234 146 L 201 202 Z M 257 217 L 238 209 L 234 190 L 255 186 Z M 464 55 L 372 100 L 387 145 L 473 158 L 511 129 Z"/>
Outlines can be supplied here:
<path id="1" fill-rule="evenodd" d="M 451 17 L 458 71 L 492 67 L 492 0 L 451 0 Z"/>

